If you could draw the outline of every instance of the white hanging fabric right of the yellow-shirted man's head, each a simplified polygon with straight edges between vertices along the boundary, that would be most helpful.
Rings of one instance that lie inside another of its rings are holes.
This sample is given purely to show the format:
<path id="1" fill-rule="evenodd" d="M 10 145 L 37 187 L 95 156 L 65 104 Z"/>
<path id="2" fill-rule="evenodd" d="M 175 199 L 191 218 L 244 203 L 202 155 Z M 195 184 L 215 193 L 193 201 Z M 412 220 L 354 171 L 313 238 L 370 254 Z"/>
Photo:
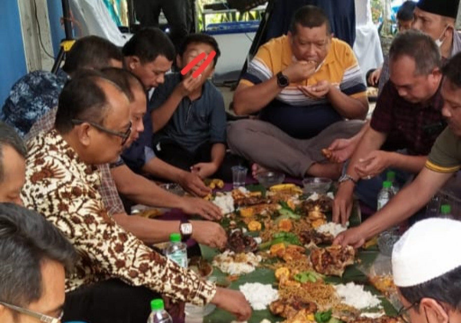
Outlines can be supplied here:
<path id="1" fill-rule="evenodd" d="M 364 80 L 368 70 L 380 67 L 383 51 L 378 29 L 373 24 L 370 0 L 355 0 L 355 42 L 353 47 Z"/>

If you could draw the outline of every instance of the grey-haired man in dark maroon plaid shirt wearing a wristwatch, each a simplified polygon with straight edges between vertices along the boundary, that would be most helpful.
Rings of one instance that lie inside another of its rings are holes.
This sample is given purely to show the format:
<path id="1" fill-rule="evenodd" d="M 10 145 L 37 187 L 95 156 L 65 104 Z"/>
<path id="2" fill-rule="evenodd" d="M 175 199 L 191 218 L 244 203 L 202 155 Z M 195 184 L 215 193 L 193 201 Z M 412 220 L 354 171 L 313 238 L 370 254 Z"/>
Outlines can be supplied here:
<path id="1" fill-rule="evenodd" d="M 375 208 L 383 175 L 389 168 L 404 171 L 403 182 L 410 174 L 419 173 L 444 128 L 441 56 L 432 38 L 418 31 L 398 35 L 392 42 L 389 60 L 390 81 L 339 180 L 333 203 L 335 222 L 347 222 L 354 191 Z M 397 152 L 400 150 L 405 152 Z"/>

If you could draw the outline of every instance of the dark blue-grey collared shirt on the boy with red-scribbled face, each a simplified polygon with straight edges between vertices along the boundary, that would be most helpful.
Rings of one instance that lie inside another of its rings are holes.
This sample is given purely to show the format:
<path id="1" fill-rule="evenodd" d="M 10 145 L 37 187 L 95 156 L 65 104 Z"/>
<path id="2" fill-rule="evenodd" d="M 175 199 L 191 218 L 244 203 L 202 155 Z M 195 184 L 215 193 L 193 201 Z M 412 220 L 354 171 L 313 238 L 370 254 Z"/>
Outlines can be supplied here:
<path id="1" fill-rule="evenodd" d="M 181 82 L 180 73 L 166 75 L 165 83 L 153 92 L 152 111 L 162 106 Z M 207 80 L 198 99 L 184 97 L 165 127 L 155 135 L 153 144 L 162 138 L 169 138 L 191 152 L 207 142 L 226 143 L 226 108 L 221 92 Z"/>

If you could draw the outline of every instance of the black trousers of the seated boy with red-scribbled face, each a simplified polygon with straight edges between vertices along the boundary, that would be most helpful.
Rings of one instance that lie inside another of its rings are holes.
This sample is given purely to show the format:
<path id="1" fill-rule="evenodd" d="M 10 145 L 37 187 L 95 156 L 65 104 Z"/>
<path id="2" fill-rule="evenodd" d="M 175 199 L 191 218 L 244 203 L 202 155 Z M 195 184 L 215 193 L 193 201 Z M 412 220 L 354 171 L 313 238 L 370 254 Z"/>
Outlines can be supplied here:
<path id="1" fill-rule="evenodd" d="M 165 161 L 165 163 L 180 168 L 185 171 L 190 171 L 190 168 L 197 163 L 208 163 L 211 161 L 211 143 L 204 143 L 195 151 L 190 152 L 181 147 L 176 142 L 170 139 L 160 141 L 160 150 L 158 145 L 154 145 L 154 152 L 157 157 Z M 232 182 L 232 166 L 245 165 L 246 161 L 237 155 L 226 153 L 223 163 L 218 171 L 212 175 L 213 178 L 222 179 L 224 182 Z"/>

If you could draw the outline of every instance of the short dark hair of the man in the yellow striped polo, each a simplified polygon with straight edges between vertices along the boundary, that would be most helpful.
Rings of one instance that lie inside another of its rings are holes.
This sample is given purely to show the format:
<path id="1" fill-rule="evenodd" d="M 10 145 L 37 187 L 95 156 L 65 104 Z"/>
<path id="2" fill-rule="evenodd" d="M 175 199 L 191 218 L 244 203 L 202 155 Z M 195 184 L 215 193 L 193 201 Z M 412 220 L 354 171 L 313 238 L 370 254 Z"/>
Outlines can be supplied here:
<path id="1" fill-rule="evenodd" d="M 331 34 L 330 20 L 325 12 L 316 6 L 302 6 L 293 15 L 290 23 L 290 32 L 293 35 L 297 33 L 297 25 L 307 28 L 315 28 L 326 25 L 327 35 Z"/>

